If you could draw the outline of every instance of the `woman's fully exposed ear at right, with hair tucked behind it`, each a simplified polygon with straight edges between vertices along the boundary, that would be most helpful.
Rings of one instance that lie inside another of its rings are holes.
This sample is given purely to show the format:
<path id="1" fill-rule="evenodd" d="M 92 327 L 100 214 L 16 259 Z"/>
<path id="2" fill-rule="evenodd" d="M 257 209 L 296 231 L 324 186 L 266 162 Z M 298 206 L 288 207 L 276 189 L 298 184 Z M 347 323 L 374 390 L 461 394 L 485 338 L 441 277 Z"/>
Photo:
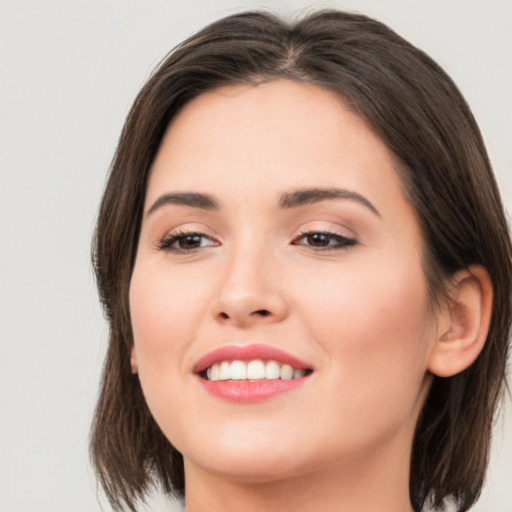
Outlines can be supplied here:
<path id="1" fill-rule="evenodd" d="M 471 265 L 450 280 L 450 301 L 438 318 L 428 369 L 451 377 L 468 368 L 482 351 L 492 313 L 491 278 L 481 265 Z"/>

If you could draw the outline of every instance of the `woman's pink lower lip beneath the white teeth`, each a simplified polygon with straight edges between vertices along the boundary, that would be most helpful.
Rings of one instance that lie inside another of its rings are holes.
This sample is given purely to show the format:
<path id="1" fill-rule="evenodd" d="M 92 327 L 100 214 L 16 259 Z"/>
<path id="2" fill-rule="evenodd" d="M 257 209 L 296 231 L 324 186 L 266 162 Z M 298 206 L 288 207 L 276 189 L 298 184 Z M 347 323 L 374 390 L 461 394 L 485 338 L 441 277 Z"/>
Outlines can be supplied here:
<path id="1" fill-rule="evenodd" d="M 199 378 L 202 386 L 211 395 L 235 403 L 254 403 L 268 400 L 273 396 L 292 391 L 306 381 L 299 379 L 272 380 L 206 380 Z"/>

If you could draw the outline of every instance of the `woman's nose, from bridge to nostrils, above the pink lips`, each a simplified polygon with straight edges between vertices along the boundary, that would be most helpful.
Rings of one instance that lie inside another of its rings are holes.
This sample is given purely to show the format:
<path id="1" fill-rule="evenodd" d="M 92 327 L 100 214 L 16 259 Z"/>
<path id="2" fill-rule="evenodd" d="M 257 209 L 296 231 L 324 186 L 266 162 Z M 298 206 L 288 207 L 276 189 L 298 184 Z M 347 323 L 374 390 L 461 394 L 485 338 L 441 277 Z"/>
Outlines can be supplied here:
<path id="1" fill-rule="evenodd" d="M 246 248 L 225 262 L 213 315 L 221 323 L 240 328 L 280 322 L 288 315 L 283 283 L 276 262 L 268 254 Z"/>

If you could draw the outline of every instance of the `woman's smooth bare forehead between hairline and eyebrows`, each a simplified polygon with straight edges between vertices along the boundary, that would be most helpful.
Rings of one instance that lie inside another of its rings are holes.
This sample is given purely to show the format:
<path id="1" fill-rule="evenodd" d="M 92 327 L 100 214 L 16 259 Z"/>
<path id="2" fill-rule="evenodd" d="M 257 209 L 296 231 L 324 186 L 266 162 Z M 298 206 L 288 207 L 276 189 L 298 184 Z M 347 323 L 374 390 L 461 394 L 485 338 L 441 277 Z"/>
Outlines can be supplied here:
<path id="1" fill-rule="evenodd" d="M 148 201 L 167 188 L 280 191 L 343 186 L 401 195 L 395 159 L 334 93 L 288 80 L 203 93 L 169 125 Z"/>

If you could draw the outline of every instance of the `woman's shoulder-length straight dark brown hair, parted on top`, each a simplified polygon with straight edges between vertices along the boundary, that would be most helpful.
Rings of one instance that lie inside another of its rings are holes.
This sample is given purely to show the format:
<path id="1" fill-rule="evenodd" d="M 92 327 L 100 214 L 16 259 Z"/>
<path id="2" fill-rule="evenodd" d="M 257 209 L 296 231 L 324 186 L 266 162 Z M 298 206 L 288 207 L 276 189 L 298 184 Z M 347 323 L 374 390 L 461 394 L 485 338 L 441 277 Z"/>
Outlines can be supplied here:
<path id="1" fill-rule="evenodd" d="M 380 135 L 420 223 L 435 299 L 456 270 L 483 265 L 494 289 L 492 321 L 476 362 L 434 377 L 411 460 L 416 510 L 463 512 L 487 466 L 503 391 L 511 323 L 511 247 L 503 207 L 469 107 L 446 73 L 385 25 L 322 11 L 296 22 L 249 12 L 221 19 L 178 46 L 137 96 L 124 126 L 99 212 L 94 266 L 110 343 L 91 434 L 99 480 L 115 510 L 135 511 L 150 487 L 183 494 L 182 456 L 153 420 L 137 376 L 128 290 L 150 166 L 173 117 L 202 92 L 287 78 L 341 96 Z"/>

